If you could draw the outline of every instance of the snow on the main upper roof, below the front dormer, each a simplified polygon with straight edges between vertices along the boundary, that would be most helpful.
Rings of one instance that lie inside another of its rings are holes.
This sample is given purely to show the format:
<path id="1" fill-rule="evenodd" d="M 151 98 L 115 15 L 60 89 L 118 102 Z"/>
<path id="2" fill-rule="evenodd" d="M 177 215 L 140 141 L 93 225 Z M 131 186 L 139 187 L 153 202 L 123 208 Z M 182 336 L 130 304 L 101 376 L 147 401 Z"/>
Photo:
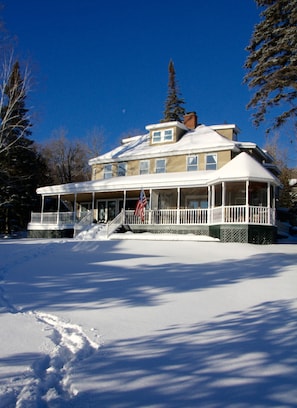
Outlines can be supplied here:
<path id="1" fill-rule="evenodd" d="M 176 143 L 150 145 L 149 134 L 133 137 L 131 142 L 125 141 L 124 144 L 110 152 L 91 159 L 89 164 L 149 159 L 160 156 L 168 157 L 177 153 L 192 154 L 230 149 L 237 150 L 234 141 L 219 135 L 209 126 L 199 125 L 196 129 L 185 133 Z"/>

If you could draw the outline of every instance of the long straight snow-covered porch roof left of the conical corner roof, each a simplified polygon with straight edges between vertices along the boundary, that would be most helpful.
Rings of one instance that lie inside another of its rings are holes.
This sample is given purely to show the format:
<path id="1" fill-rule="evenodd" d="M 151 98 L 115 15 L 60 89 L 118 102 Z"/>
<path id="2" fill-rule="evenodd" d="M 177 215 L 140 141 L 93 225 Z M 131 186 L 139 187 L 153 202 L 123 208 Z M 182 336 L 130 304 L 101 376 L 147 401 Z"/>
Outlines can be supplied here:
<path id="1" fill-rule="evenodd" d="M 93 180 L 80 183 L 60 184 L 40 187 L 37 194 L 78 194 L 92 192 L 132 191 L 141 188 L 177 188 L 177 187 L 206 187 L 215 170 L 188 171 L 180 173 L 143 174 L 138 176 L 111 177 L 104 180 Z"/>

